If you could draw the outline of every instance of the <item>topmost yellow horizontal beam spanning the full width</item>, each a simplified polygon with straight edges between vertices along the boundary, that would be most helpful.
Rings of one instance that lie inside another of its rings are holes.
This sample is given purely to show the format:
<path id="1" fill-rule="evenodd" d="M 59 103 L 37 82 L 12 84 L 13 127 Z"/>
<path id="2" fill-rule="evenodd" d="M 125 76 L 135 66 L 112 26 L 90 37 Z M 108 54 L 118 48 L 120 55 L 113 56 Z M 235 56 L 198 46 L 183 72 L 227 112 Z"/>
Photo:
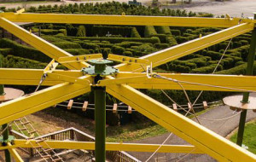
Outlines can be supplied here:
<path id="1" fill-rule="evenodd" d="M 104 14 L 14 14 L 2 13 L 0 16 L 14 22 L 37 23 L 70 23 L 70 24 L 102 24 L 130 26 L 205 26 L 230 27 L 236 26 L 240 19 L 234 18 L 199 18 L 171 16 L 137 16 L 137 15 L 104 15 Z M 253 20 L 241 19 L 241 22 Z"/>

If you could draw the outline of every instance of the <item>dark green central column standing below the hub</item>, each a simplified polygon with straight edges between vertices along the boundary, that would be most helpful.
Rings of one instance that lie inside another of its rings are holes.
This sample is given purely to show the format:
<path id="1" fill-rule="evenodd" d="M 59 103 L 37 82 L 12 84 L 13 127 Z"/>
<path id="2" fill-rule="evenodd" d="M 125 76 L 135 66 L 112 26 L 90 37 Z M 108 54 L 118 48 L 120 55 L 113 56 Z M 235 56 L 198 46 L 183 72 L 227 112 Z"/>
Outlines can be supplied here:
<path id="1" fill-rule="evenodd" d="M 94 88 L 95 101 L 95 158 L 96 162 L 104 162 L 106 159 L 106 89 Z"/>

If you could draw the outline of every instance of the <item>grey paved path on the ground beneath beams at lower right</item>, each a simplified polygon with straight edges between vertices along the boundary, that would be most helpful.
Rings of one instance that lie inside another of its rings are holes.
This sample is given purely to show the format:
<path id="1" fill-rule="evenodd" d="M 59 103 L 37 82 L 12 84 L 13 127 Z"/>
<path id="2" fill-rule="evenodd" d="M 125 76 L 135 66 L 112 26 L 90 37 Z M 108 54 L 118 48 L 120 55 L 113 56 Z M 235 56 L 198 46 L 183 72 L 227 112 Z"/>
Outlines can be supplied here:
<path id="1" fill-rule="evenodd" d="M 228 118 L 230 116 L 234 116 L 236 113 L 230 110 L 229 107 L 227 106 L 219 106 L 215 107 L 212 110 L 208 111 L 207 113 L 201 114 L 200 117 L 204 119 L 224 119 Z M 207 127 L 210 130 L 215 131 L 221 136 L 227 136 L 230 134 L 232 130 L 235 130 L 236 127 L 238 127 L 239 124 L 239 118 L 240 115 L 237 114 L 235 117 L 230 118 L 230 119 L 225 119 L 222 121 L 209 121 L 209 120 L 202 120 L 201 124 Z M 256 118 L 256 113 L 253 113 L 253 111 L 248 111 L 247 113 L 247 121 L 251 119 Z M 173 121 L 175 122 L 175 121 Z M 150 137 L 147 139 L 143 139 L 141 141 L 137 141 L 139 143 L 155 143 L 155 144 L 160 144 L 166 140 L 166 137 L 169 136 L 169 133 L 166 133 L 162 136 L 155 136 L 155 137 Z M 166 144 L 188 144 L 187 142 L 183 141 L 181 138 L 172 135 L 171 138 L 166 142 Z M 151 153 L 133 153 L 130 152 L 132 156 L 136 157 L 137 159 L 140 159 L 142 161 L 145 161 L 148 159 L 148 157 L 151 155 Z M 184 154 L 179 153 L 179 156 L 183 156 Z M 176 153 L 156 153 L 155 156 L 150 159 L 149 161 L 154 161 L 155 158 L 157 157 L 165 157 L 168 159 L 168 161 L 175 161 L 177 158 Z M 172 159 L 172 160 L 171 160 Z M 186 162 L 192 162 L 192 161 L 207 161 L 207 162 L 213 162 L 216 161 L 215 159 L 212 159 L 210 156 L 206 154 L 190 154 L 186 158 L 184 158 L 182 161 Z"/>

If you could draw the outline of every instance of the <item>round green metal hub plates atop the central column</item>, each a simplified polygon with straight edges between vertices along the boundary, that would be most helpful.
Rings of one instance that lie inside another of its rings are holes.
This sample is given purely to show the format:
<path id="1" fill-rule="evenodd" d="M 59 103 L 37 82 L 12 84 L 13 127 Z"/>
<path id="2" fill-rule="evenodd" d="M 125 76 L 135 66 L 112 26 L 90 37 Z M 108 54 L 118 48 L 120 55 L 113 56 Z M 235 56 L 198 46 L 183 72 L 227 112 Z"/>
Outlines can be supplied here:
<path id="1" fill-rule="evenodd" d="M 112 63 L 113 61 L 91 60 L 88 62 L 91 63 L 93 66 L 83 68 L 82 72 L 84 72 L 84 74 L 90 74 L 92 76 L 100 75 L 101 77 L 105 77 L 108 75 L 114 75 L 119 72 L 118 69 L 107 66 L 107 64 Z"/>

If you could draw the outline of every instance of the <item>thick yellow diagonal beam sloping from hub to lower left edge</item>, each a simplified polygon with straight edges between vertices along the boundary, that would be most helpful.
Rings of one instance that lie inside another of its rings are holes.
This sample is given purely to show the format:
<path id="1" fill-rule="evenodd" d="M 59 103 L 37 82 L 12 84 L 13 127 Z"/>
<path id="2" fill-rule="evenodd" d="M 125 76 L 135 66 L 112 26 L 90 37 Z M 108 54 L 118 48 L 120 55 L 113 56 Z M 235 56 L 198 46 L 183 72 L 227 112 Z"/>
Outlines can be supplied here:
<path id="1" fill-rule="evenodd" d="M 83 77 L 90 79 L 90 77 Z M 44 108 L 51 107 L 61 101 L 67 101 L 78 95 L 90 92 L 88 86 L 80 84 L 57 84 L 31 95 L 25 95 L 12 101 L 0 104 L 0 124 L 9 123 L 30 113 L 38 112 Z"/>

